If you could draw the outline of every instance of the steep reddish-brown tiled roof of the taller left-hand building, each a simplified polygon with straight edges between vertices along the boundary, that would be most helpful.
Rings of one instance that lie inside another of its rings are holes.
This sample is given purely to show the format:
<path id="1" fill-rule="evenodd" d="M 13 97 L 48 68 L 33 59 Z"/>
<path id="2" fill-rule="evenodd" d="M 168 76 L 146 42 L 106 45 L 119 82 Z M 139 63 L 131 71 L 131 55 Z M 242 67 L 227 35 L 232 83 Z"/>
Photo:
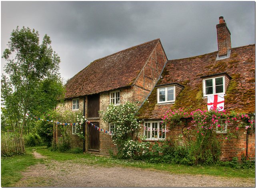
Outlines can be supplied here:
<path id="1" fill-rule="evenodd" d="M 130 86 L 160 42 L 152 40 L 95 60 L 66 83 L 65 98 Z"/>

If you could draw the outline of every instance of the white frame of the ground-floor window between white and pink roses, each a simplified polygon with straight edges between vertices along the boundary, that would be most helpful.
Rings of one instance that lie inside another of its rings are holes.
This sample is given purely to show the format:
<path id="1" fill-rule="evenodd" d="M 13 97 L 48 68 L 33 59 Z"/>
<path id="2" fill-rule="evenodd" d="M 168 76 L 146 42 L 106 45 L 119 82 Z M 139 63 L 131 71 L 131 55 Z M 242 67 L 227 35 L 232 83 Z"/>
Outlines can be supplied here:
<path id="1" fill-rule="evenodd" d="M 157 128 L 156 128 L 157 123 Z M 146 136 L 146 140 L 165 140 L 166 138 L 166 126 L 164 126 L 164 131 L 160 128 L 160 125 L 164 124 L 162 121 L 147 121 L 144 122 L 143 136 Z M 154 125 L 154 130 L 153 130 Z M 146 128 L 145 128 L 146 126 Z M 150 130 L 148 130 L 150 128 Z M 158 128 L 160 129 L 158 132 Z M 162 135 L 160 138 L 160 135 Z M 163 138 L 164 137 L 164 138 Z"/>

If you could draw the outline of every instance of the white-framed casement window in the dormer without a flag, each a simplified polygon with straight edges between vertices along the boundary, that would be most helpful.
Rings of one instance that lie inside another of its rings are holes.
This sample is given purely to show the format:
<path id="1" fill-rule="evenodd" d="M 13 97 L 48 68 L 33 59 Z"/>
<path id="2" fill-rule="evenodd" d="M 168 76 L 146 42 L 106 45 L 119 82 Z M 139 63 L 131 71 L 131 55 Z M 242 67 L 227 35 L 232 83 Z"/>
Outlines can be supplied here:
<path id="1" fill-rule="evenodd" d="M 157 89 L 157 102 L 166 103 L 175 101 L 175 86 L 169 86 Z"/>

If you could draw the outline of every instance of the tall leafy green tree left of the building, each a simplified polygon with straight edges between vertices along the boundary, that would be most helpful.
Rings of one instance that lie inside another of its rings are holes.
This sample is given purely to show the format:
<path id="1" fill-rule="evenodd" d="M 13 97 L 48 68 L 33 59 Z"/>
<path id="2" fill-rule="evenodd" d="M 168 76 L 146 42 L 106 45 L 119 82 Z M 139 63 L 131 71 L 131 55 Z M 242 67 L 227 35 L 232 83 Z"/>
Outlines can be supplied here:
<path id="1" fill-rule="evenodd" d="M 3 52 L 2 58 L 7 61 L 4 68 L 9 78 L 2 75 L 2 106 L 10 123 L 19 128 L 20 136 L 26 126 L 28 112 L 42 106 L 42 103 L 54 106 L 56 102 L 52 100 L 62 96 L 58 73 L 60 57 L 50 44 L 47 34 L 39 44 L 38 31 L 17 27 L 12 30 L 8 48 Z M 54 89 L 56 93 L 50 94 Z"/>

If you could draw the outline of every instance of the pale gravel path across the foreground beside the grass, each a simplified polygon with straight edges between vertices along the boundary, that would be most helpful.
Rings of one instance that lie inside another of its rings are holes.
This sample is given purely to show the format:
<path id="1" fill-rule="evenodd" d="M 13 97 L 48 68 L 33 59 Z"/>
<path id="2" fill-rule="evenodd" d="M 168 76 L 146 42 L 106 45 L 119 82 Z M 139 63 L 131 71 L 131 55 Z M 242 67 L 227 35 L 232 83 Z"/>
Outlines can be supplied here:
<path id="1" fill-rule="evenodd" d="M 45 158 L 34 151 L 36 158 Z M 255 187 L 254 178 L 170 174 L 132 167 L 94 167 L 44 159 L 16 187 Z"/>

